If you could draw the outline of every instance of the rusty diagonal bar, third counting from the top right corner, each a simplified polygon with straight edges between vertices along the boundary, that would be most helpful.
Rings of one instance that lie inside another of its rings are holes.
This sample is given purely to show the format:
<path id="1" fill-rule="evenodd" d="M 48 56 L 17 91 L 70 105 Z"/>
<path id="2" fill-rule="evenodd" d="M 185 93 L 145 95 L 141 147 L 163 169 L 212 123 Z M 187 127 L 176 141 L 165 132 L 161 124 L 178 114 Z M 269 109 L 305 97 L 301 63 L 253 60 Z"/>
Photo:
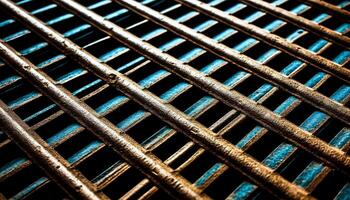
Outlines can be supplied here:
<path id="1" fill-rule="evenodd" d="M 201 12 L 209 17 L 212 17 L 215 20 L 218 20 L 228 26 L 231 26 L 234 29 L 237 29 L 239 31 L 242 31 L 249 36 L 258 39 L 264 43 L 267 43 L 269 45 L 272 45 L 276 47 L 277 49 L 286 52 L 292 56 L 295 56 L 296 58 L 314 66 L 318 69 L 329 73 L 335 77 L 338 77 L 342 80 L 344 80 L 347 83 L 350 83 L 350 70 L 341 67 L 340 65 L 322 57 L 317 54 L 312 53 L 311 51 L 297 45 L 293 44 L 291 42 L 288 42 L 286 39 L 272 34 L 268 32 L 267 30 L 264 30 L 256 25 L 250 24 L 247 21 L 241 20 L 238 17 L 235 17 L 233 15 L 229 15 L 228 13 L 217 9 L 215 7 L 210 6 L 209 4 L 202 3 L 198 0 L 175 0 L 181 4 L 184 4 L 192 9 L 197 10 L 198 12 Z M 123 4 L 127 6 L 129 9 L 134 10 L 135 12 L 138 12 L 139 14 L 142 14 L 143 16 L 147 16 L 147 18 L 158 18 L 159 15 L 153 15 L 155 12 L 146 12 L 146 10 L 141 10 L 141 8 L 148 8 L 146 6 L 139 6 L 142 4 L 135 4 L 134 1 L 130 0 L 123 0 L 123 1 L 116 1 L 120 4 Z M 149 8 L 148 8 L 149 9 Z M 147 10 L 148 11 L 148 10 Z M 151 16 L 152 15 L 152 16 Z M 191 34 L 193 35 L 193 34 Z"/>

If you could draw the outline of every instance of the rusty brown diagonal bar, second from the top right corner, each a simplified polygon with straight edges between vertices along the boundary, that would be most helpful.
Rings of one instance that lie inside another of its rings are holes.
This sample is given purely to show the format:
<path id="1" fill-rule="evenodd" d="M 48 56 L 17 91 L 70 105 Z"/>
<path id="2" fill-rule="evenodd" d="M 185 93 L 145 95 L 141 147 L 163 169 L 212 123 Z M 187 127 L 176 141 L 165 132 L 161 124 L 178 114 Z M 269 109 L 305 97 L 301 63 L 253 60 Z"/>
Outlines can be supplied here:
<path id="1" fill-rule="evenodd" d="M 336 43 L 342 47 L 345 47 L 347 49 L 350 48 L 350 38 L 346 37 L 345 35 L 342 35 L 336 31 L 333 31 L 332 29 L 329 29 L 327 27 L 324 27 L 322 25 L 319 25 L 315 22 L 312 22 L 304 17 L 295 15 L 283 8 L 279 8 L 276 6 L 273 6 L 267 2 L 264 2 L 262 0 L 239 0 L 240 2 L 243 2 L 249 6 L 252 6 L 258 10 L 262 10 L 264 12 L 267 12 L 277 18 L 283 19 L 291 24 L 294 24 L 300 28 L 303 28 L 305 30 L 308 30 L 316 35 L 319 35 L 322 38 L 325 38 L 326 40 L 329 40 L 332 43 Z"/>

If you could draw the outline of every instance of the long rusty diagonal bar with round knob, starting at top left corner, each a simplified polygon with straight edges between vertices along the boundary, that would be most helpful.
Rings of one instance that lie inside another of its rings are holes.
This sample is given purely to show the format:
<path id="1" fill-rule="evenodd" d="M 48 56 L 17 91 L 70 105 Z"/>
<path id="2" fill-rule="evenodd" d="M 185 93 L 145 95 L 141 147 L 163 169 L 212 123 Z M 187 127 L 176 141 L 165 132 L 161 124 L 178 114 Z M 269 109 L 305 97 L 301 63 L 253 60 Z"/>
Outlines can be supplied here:
<path id="1" fill-rule="evenodd" d="M 78 10 L 80 11 L 91 12 L 75 2 L 70 3 L 78 6 Z M 102 64 L 95 57 L 86 53 L 68 39 L 63 38 L 59 33 L 45 26 L 42 22 L 35 19 L 16 5 L 5 0 L 1 1 L 1 5 L 6 7 L 6 11 L 10 12 L 31 30 L 35 31 L 48 42 L 61 49 L 66 55 L 78 61 L 95 75 L 116 87 L 133 100 L 139 102 L 146 109 L 162 118 L 178 131 L 185 133 L 194 141 L 206 147 L 206 149 L 213 151 L 213 153 L 219 158 L 247 174 L 252 181 L 266 188 L 268 191 L 274 191 L 273 194 L 288 196 L 289 198 L 311 198 L 307 193 L 305 193 L 305 191 L 300 190 L 300 188 L 290 184 L 281 176 L 271 173 L 268 168 L 244 154 L 231 143 L 228 143 L 222 138 L 216 137 L 213 132 L 206 129 L 199 123 L 188 119 L 187 116 L 174 107 L 164 104 L 158 97 L 146 90 L 143 90 L 136 83 L 124 75 L 116 72 L 109 66 Z M 100 16 L 94 17 L 99 17 L 99 19 L 101 18 Z"/>

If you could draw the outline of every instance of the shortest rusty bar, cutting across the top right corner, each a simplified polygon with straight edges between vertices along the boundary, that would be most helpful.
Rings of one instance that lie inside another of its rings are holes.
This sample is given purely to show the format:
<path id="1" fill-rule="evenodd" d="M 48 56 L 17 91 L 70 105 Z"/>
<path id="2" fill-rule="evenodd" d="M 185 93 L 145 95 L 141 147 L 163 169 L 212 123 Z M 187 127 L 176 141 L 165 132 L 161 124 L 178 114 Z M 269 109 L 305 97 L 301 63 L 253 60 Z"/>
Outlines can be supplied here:
<path id="1" fill-rule="evenodd" d="M 325 11 L 333 16 L 336 16 L 344 21 L 350 21 L 350 12 L 341 9 L 336 5 L 330 4 L 323 0 L 299 0 L 301 3 L 308 4 L 314 8 Z"/>

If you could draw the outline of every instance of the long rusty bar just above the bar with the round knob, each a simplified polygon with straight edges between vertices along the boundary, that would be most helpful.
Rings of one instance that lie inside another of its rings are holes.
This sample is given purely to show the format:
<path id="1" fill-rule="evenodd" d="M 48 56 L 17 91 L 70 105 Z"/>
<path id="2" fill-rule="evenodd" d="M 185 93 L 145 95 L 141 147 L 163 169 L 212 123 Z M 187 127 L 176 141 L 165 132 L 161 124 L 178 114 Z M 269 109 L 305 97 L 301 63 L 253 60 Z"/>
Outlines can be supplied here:
<path id="1" fill-rule="evenodd" d="M 288 120 L 279 117 L 272 111 L 266 109 L 261 105 L 258 105 L 256 102 L 251 101 L 250 99 L 239 94 L 238 92 L 228 90 L 227 87 L 222 83 L 206 76 L 205 74 L 195 70 L 189 65 L 183 64 L 181 61 L 170 56 L 169 54 L 163 53 L 162 51 L 150 45 L 149 43 L 143 42 L 136 36 L 123 30 L 115 24 L 103 19 L 101 16 L 95 14 L 92 11 L 89 11 L 85 7 L 73 1 L 62 0 L 58 3 L 61 5 L 64 4 L 64 7 L 66 9 L 73 11 L 76 15 L 81 16 L 89 23 L 93 24 L 105 33 L 109 34 L 111 37 L 129 46 L 129 48 L 140 52 L 145 57 L 160 64 L 165 69 L 173 72 L 174 74 L 177 74 L 178 76 L 184 78 L 185 80 L 196 85 L 197 87 L 203 89 L 204 91 L 221 100 L 223 103 L 226 103 L 228 106 L 231 106 L 237 110 L 240 110 L 244 114 L 253 117 L 265 127 L 275 131 L 276 133 L 279 133 L 282 137 L 288 139 L 295 145 L 311 152 L 319 159 L 323 160 L 325 163 L 328 163 L 332 167 L 340 169 L 341 171 L 343 171 L 344 174 L 347 174 L 347 172 L 349 171 L 348 169 L 350 169 L 350 157 L 346 156 L 344 152 L 340 151 L 339 149 L 329 146 L 324 141 L 310 135 L 309 132 L 300 129 Z M 35 27 L 33 27 L 33 29 L 34 28 Z M 39 31 L 37 31 L 37 33 L 40 34 Z M 103 77 L 103 74 L 100 72 L 102 70 L 97 70 L 98 72 L 95 72 L 95 74 L 100 75 L 101 78 L 104 78 L 106 81 L 110 82 L 110 80 L 106 77 L 108 73 L 105 73 Z M 117 78 L 117 80 L 119 79 Z M 136 98 L 137 95 L 139 94 L 136 93 L 134 94 L 134 96 L 131 97 L 135 100 L 139 100 L 138 98 Z M 142 99 L 139 100 L 139 103 L 141 103 L 141 101 Z M 165 121 L 174 120 L 172 117 L 165 118 L 163 114 L 160 115 L 158 113 L 161 109 L 164 108 L 162 104 L 156 106 L 158 103 L 155 102 L 155 104 L 151 104 L 150 100 L 145 101 L 144 104 L 146 108 L 149 108 L 151 112 L 160 116 Z M 152 106 L 152 108 L 150 108 L 150 106 Z M 162 106 L 163 108 L 161 108 L 160 106 Z M 170 111 L 167 111 L 167 115 L 169 115 L 168 112 Z M 198 136 L 202 137 L 202 135 Z M 200 138 L 200 140 L 204 140 L 205 142 L 203 141 L 203 143 L 206 143 L 208 139 Z M 219 148 L 215 147 L 214 145 L 212 148 L 210 148 L 210 151 L 214 152 L 214 150 L 219 150 Z"/>

